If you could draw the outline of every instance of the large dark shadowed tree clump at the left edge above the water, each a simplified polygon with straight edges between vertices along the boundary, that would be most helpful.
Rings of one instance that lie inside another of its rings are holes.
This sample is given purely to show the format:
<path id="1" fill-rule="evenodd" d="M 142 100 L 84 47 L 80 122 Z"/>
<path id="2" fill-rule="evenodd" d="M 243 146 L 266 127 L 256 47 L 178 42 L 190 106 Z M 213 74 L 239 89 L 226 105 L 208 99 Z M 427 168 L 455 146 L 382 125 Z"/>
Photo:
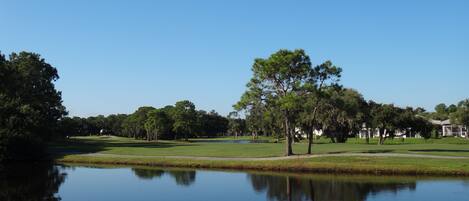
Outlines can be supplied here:
<path id="1" fill-rule="evenodd" d="M 38 54 L 0 55 L 0 161 L 43 156 L 66 114 L 54 82 L 57 70 Z"/>

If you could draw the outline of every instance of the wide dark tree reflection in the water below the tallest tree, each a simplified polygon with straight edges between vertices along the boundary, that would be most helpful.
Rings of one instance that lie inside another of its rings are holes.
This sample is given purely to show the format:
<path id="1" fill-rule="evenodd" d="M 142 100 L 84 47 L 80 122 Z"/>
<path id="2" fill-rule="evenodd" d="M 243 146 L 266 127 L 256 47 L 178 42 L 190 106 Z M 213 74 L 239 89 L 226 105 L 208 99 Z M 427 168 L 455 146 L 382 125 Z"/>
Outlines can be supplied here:
<path id="1" fill-rule="evenodd" d="M 415 190 L 415 181 L 346 179 L 333 176 L 311 178 L 248 174 L 255 191 L 266 192 L 269 200 L 366 200 L 370 194 Z M 347 179 L 348 178 L 348 179 Z"/>

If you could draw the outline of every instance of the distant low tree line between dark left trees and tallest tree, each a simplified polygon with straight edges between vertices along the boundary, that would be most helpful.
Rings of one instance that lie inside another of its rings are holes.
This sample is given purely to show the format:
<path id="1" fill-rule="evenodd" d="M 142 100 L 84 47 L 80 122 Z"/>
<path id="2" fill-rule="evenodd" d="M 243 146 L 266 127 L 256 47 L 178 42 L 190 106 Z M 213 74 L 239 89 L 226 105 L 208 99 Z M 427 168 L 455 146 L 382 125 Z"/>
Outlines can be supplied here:
<path id="1" fill-rule="evenodd" d="M 163 108 L 140 107 L 132 114 L 65 117 L 61 127 L 64 135 L 108 134 L 157 141 L 224 135 L 229 122 L 214 110 L 196 110 L 194 103 L 183 100 Z"/>

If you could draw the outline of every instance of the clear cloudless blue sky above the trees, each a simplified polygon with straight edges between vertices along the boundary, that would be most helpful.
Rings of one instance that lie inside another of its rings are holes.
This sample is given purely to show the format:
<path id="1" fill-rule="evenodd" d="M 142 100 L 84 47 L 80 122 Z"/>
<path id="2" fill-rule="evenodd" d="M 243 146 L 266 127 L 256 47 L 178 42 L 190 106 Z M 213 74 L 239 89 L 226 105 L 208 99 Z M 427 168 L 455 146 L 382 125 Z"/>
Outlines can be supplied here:
<path id="1" fill-rule="evenodd" d="M 253 59 L 281 48 L 332 60 L 367 100 L 469 98 L 467 0 L 0 0 L 0 51 L 55 66 L 71 115 L 182 99 L 227 114 Z"/>

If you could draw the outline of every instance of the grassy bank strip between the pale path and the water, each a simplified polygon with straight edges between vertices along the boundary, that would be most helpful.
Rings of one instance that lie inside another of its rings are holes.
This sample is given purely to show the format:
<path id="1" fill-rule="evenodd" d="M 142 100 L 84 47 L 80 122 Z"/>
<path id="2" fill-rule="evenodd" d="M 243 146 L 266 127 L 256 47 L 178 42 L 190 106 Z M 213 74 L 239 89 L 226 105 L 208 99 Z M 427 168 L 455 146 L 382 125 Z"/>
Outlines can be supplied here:
<path id="1" fill-rule="evenodd" d="M 408 161 L 410 164 L 393 164 L 392 161 Z M 387 156 L 321 156 L 282 160 L 229 160 L 194 159 L 190 157 L 145 157 L 125 155 L 66 155 L 56 158 L 56 163 L 78 163 L 96 165 L 127 165 L 161 168 L 196 168 L 239 171 L 271 171 L 289 173 L 327 173 L 348 175 L 388 175 L 388 176 L 469 176 L 469 159 L 459 166 L 436 166 L 446 161 L 461 162 L 459 159 L 387 157 Z M 451 163 L 449 162 L 449 163 Z"/>

